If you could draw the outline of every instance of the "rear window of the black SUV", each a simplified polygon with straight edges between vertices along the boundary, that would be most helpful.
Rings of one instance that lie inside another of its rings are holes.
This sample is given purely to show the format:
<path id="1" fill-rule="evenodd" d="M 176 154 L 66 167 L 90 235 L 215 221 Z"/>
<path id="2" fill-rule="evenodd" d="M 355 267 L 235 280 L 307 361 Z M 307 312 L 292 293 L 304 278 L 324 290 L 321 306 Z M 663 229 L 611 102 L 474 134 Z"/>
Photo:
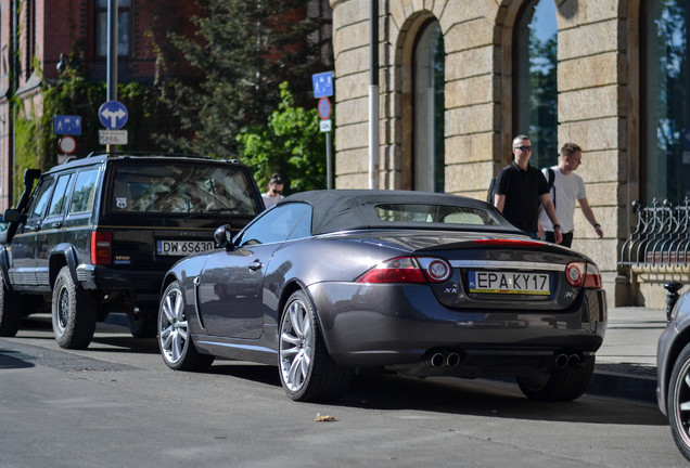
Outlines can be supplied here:
<path id="1" fill-rule="evenodd" d="M 254 216 L 247 174 L 229 165 L 118 165 L 108 202 L 114 212 Z"/>

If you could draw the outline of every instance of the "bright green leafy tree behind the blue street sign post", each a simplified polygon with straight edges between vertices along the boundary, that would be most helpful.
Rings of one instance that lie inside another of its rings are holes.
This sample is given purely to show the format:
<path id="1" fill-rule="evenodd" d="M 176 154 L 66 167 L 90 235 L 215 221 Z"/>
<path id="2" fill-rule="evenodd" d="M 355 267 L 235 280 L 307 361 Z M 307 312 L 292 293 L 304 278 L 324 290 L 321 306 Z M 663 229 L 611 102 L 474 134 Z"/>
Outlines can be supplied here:
<path id="1" fill-rule="evenodd" d="M 289 192 L 325 188 L 325 139 L 316 105 L 309 110 L 295 106 L 288 82 L 280 84 L 280 96 L 268 123 L 245 127 L 238 135 L 242 160 L 253 169 L 259 187 L 280 172 Z"/>

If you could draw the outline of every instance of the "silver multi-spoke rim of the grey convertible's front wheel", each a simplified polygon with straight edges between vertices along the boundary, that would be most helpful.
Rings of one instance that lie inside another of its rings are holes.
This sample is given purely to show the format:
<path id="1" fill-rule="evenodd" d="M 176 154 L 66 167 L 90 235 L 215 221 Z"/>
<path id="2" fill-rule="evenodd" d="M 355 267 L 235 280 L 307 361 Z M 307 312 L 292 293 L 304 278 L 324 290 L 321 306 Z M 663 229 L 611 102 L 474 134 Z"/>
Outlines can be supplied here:
<path id="1" fill-rule="evenodd" d="M 178 288 L 169 289 L 161 303 L 158 314 L 158 343 L 168 364 L 176 365 L 184 356 L 188 337 L 182 292 Z"/>

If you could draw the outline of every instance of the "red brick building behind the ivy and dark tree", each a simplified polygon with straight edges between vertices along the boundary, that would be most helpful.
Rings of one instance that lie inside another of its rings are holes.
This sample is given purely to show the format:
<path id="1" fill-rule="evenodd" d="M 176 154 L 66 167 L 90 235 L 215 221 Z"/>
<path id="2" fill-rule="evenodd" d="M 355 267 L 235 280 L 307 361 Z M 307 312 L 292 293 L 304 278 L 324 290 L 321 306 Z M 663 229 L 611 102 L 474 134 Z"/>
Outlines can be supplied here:
<path id="1" fill-rule="evenodd" d="M 64 65 L 61 57 L 77 49 L 77 60 L 89 78 L 105 82 L 107 4 L 108 0 L 0 0 L 0 209 L 13 202 L 16 116 L 10 101 L 20 100 L 26 115 L 31 115 L 29 109 L 40 113 L 41 84 L 55 80 L 59 66 Z M 154 42 L 165 54 L 170 47 L 168 31 L 192 36 L 189 18 L 199 14 L 196 2 L 117 0 L 117 6 L 118 82 L 153 82 L 161 73 L 176 77 L 190 73 L 179 53 L 166 55 L 163 72 Z M 321 30 L 305 40 L 325 41 L 321 58 L 328 63 L 332 57 L 328 0 L 308 0 L 304 14 L 325 20 Z"/>

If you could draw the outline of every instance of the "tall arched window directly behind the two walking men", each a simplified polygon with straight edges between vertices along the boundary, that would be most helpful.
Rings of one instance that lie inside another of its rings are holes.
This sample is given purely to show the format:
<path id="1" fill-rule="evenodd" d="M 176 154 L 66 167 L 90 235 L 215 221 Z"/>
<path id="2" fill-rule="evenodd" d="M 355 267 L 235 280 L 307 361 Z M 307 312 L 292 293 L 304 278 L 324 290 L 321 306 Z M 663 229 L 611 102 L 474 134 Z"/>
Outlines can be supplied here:
<path id="1" fill-rule="evenodd" d="M 529 164 L 551 166 L 558 157 L 558 27 L 553 0 L 525 3 L 514 28 L 513 135 L 532 139 Z"/>

